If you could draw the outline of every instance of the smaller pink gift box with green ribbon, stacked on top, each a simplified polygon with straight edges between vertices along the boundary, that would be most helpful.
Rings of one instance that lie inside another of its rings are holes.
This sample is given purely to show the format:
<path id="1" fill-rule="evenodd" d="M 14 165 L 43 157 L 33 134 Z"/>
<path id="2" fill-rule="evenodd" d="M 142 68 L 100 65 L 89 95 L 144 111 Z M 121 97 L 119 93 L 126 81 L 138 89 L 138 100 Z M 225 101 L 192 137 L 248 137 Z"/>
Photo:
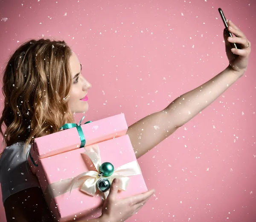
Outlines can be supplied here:
<path id="1" fill-rule="evenodd" d="M 126 134 L 128 126 L 125 121 L 125 115 L 118 114 L 81 125 L 81 128 L 86 140 L 85 146 L 87 146 L 96 142 L 123 136 Z M 39 159 L 78 149 L 80 145 L 79 133 L 76 127 L 74 127 L 44 137 L 35 138 L 30 149 L 30 154 L 35 164 L 38 164 Z M 28 162 L 32 172 L 35 173 L 36 168 L 30 158 L 28 158 Z"/>

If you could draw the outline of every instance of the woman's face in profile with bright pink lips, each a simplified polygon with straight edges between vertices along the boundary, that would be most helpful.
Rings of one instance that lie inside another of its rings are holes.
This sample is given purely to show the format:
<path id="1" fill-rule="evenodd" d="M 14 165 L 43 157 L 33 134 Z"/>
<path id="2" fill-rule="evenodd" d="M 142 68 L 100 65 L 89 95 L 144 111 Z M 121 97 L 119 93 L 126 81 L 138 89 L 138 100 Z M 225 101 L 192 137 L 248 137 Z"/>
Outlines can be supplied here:
<path id="1" fill-rule="evenodd" d="M 87 91 L 91 84 L 81 74 L 82 65 L 75 53 L 70 57 L 70 69 L 72 75 L 72 87 L 68 106 L 73 113 L 83 113 L 88 110 Z"/>

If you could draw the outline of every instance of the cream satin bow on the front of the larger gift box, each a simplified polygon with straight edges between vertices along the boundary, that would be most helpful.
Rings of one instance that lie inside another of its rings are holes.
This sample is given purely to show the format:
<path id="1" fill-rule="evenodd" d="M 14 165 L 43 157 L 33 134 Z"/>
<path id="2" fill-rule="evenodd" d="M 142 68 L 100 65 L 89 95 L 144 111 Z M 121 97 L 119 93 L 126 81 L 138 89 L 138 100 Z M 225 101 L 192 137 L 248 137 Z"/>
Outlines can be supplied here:
<path id="1" fill-rule="evenodd" d="M 82 153 L 82 155 L 88 156 L 91 161 L 93 162 L 93 165 L 95 166 L 97 171 L 88 171 L 84 172 L 82 174 L 79 174 L 76 176 L 71 183 L 70 187 L 70 193 L 72 190 L 73 185 L 83 177 L 87 177 L 84 179 L 83 185 L 81 186 L 81 191 L 85 194 L 94 196 L 96 194 L 96 182 L 99 177 L 99 167 L 101 165 L 101 158 L 99 154 L 99 146 L 97 144 L 84 147 L 86 152 Z M 86 157 L 85 157 L 86 158 Z M 137 160 L 128 162 L 118 168 L 116 168 L 111 176 L 106 177 L 110 183 L 112 183 L 114 178 L 119 179 L 119 185 L 118 189 L 121 191 L 125 191 L 128 183 L 129 183 L 129 177 L 128 176 L 134 176 L 141 174 L 140 166 L 137 162 Z M 88 178 L 89 176 L 89 178 Z M 104 176 L 102 176 L 104 177 Z M 105 197 L 108 196 L 109 191 L 105 192 Z"/>

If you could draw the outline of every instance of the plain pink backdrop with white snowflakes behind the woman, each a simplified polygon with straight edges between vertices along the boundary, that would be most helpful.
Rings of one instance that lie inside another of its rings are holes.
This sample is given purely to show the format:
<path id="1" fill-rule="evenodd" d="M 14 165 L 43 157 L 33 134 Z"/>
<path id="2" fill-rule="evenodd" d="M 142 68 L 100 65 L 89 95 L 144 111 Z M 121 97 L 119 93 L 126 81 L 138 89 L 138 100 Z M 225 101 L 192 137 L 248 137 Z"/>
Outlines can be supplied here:
<path id="1" fill-rule="evenodd" d="M 218 7 L 252 42 L 248 70 L 139 159 L 156 193 L 128 222 L 256 220 L 256 2 L 5 0 L 0 5 L 1 68 L 25 40 L 64 39 L 93 85 L 86 119 L 123 112 L 128 125 L 226 68 Z M 0 206 L 1 222 L 3 212 Z"/>

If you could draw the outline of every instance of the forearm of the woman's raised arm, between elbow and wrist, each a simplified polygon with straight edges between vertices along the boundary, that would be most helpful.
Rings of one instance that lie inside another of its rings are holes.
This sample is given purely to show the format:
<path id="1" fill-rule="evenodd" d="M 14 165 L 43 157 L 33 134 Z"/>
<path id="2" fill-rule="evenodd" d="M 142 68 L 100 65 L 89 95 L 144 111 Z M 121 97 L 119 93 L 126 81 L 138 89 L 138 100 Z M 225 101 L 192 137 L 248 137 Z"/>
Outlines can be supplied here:
<path id="1" fill-rule="evenodd" d="M 177 126 L 182 126 L 216 100 L 238 79 L 233 71 L 226 68 L 208 82 L 178 97 L 165 110 L 171 114 L 172 119 L 176 120 Z"/>

